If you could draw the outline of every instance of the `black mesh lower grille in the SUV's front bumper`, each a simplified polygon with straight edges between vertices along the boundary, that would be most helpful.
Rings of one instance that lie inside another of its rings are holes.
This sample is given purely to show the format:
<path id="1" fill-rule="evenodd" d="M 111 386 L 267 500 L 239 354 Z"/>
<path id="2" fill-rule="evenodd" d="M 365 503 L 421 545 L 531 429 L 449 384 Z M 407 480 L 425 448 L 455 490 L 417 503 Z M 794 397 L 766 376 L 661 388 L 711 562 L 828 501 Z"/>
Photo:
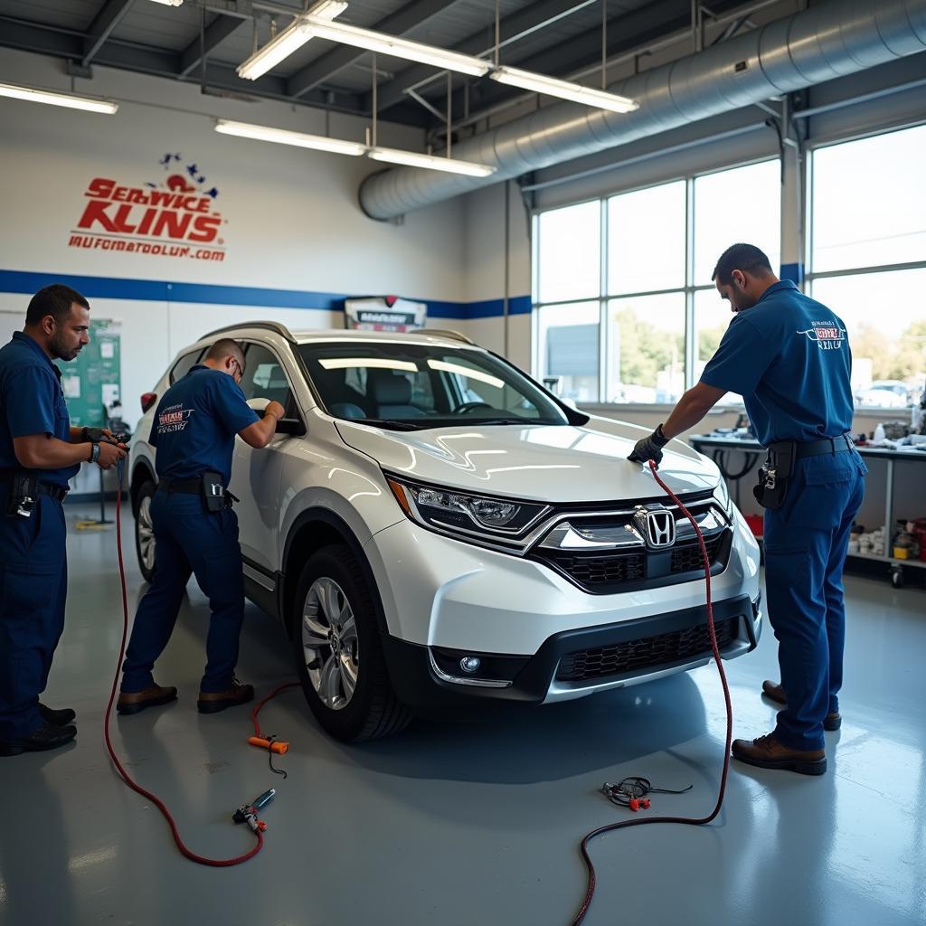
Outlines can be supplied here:
<path id="1" fill-rule="evenodd" d="M 719 649 L 722 650 L 736 638 L 738 623 L 739 618 L 715 623 Z M 568 653 L 559 660 L 557 681 L 586 682 L 641 669 L 657 669 L 683 659 L 702 656 L 710 649 L 707 624 L 699 624 L 683 631 L 660 633 L 640 640 Z"/>

